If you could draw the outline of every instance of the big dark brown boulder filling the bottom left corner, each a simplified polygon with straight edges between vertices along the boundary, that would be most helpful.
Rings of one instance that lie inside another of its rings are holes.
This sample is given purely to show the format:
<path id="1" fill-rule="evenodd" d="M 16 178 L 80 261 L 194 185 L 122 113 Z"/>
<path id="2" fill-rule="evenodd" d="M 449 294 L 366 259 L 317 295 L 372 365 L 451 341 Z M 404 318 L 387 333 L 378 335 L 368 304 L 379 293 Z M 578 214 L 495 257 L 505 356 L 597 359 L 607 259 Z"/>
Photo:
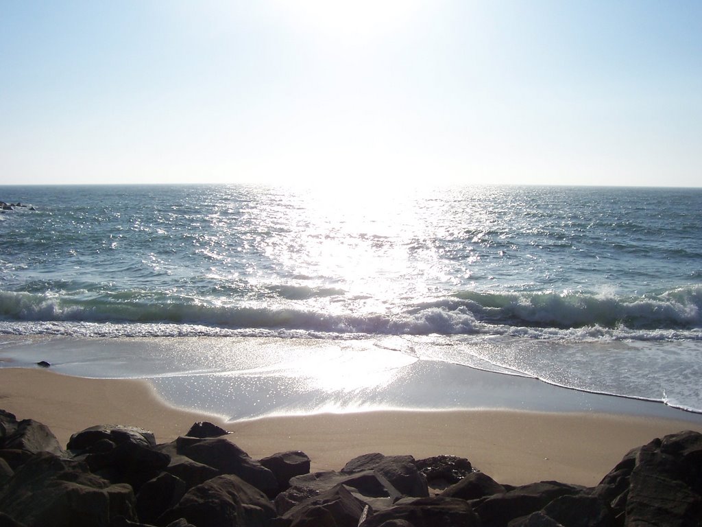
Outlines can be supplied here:
<path id="1" fill-rule="evenodd" d="M 136 520 L 127 485 L 90 474 L 86 464 L 38 453 L 0 490 L 0 510 L 28 526 L 108 527 L 114 516 Z"/>

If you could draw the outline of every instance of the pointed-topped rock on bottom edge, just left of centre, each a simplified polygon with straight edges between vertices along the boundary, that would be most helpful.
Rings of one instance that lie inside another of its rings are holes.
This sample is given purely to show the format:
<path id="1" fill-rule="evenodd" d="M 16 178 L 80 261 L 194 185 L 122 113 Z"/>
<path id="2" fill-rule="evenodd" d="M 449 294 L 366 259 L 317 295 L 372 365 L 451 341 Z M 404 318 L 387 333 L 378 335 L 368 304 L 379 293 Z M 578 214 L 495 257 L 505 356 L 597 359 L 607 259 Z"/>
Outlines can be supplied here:
<path id="1" fill-rule="evenodd" d="M 299 503 L 283 518 L 291 521 L 291 527 L 357 527 L 365 508 L 366 504 L 353 496 L 348 488 L 337 485 Z"/>

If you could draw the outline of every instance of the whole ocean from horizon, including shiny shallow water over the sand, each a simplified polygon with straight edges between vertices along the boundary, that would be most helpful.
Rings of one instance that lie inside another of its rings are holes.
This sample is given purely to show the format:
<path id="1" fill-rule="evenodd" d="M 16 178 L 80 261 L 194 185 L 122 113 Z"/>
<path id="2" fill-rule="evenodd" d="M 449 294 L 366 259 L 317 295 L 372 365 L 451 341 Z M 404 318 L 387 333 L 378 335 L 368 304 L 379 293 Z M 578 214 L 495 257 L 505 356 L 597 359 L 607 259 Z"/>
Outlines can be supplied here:
<path id="1" fill-rule="evenodd" d="M 0 200 L 32 206 L 0 214 L 0 367 L 147 378 L 231 419 L 490 405 L 455 388 L 471 370 L 702 412 L 702 189 L 0 186 Z"/>

